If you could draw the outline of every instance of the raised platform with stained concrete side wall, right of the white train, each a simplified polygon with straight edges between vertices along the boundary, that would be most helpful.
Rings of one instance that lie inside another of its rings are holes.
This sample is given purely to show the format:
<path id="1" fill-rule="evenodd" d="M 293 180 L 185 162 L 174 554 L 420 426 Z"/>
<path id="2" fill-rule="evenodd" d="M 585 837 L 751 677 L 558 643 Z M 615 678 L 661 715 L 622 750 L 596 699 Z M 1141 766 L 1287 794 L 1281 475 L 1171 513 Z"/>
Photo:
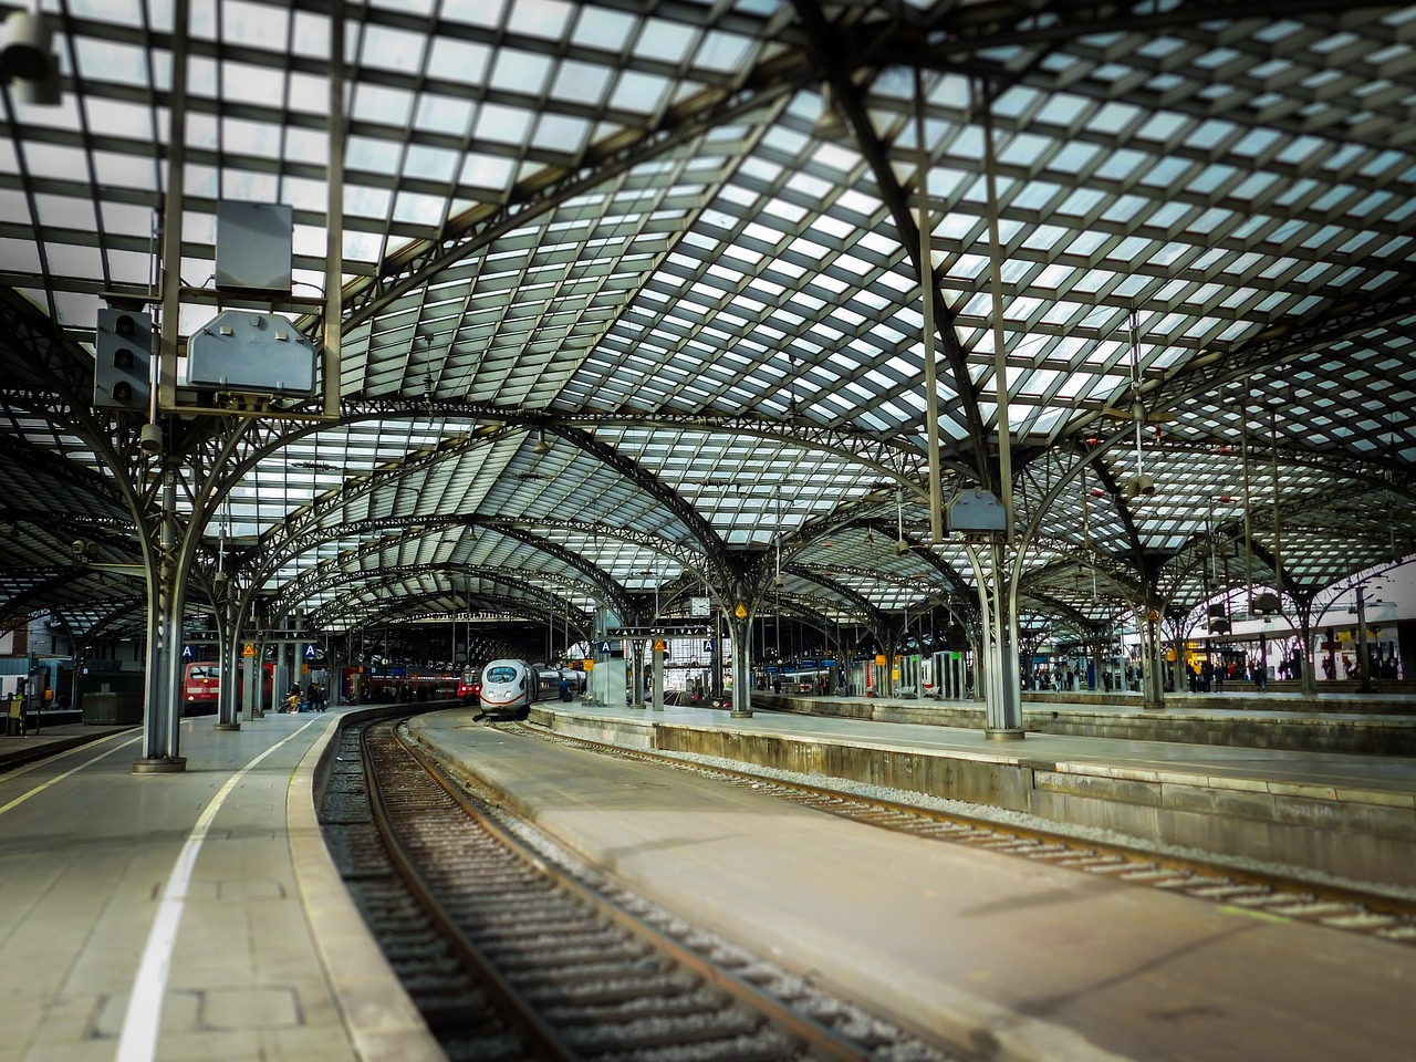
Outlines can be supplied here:
<path id="1" fill-rule="evenodd" d="M 1416 888 L 1416 760 L 1029 733 L 759 711 L 548 704 L 532 721 L 1025 811 L 1233 858 Z"/>

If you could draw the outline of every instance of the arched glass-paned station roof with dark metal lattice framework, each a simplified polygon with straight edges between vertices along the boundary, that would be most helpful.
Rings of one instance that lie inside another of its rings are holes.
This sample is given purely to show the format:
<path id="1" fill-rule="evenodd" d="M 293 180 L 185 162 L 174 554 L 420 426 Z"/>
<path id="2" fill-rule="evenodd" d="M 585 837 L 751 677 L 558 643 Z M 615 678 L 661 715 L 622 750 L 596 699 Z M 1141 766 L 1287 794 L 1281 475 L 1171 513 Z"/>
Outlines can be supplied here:
<path id="1" fill-rule="evenodd" d="M 95 321 L 156 309 L 178 147 L 180 346 L 261 303 L 217 286 L 224 201 L 292 210 L 268 307 L 319 341 L 336 178 L 338 409 L 212 416 L 183 358 L 204 412 L 161 413 L 198 569 L 334 632 L 729 573 L 967 613 L 922 204 L 944 497 L 998 490 L 1001 362 L 1027 609 L 1298 605 L 1416 554 L 1416 6 L 371 0 L 343 62 L 340 4 L 40 7 L 62 99 L 0 92 L 0 617 L 142 626 L 161 466 L 93 409 Z"/>

